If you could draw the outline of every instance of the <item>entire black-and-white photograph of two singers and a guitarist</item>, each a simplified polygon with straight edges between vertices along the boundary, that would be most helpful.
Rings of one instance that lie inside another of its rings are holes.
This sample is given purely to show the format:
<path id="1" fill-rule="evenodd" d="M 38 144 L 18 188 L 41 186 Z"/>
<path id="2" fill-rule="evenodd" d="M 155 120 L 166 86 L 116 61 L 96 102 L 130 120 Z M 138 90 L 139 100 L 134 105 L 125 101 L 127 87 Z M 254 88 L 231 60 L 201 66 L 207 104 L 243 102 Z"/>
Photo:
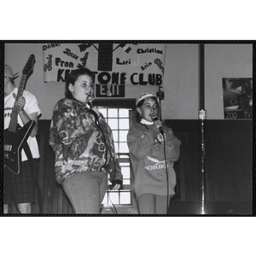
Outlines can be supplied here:
<path id="1" fill-rule="evenodd" d="M 3 213 L 251 215 L 252 70 L 250 42 L 5 42 Z"/>

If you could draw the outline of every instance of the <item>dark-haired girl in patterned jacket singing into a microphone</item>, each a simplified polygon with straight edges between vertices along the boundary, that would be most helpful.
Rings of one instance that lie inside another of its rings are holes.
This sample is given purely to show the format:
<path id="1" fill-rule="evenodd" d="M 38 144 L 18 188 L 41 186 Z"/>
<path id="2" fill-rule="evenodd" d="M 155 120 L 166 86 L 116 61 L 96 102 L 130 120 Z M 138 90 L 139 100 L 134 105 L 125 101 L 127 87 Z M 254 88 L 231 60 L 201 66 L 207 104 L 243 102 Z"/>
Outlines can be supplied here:
<path id="1" fill-rule="evenodd" d="M 90 108 L 90 70 L 73 70 L 66 79 L 66 98 L 56 103 L 49 144 L 55 153 L 56 182 L 61 183 L 76 213 L 100 213 L 107 175 L 113 189 L 123 176 L 113 146 L 113 134 L 96 107 Z"/>

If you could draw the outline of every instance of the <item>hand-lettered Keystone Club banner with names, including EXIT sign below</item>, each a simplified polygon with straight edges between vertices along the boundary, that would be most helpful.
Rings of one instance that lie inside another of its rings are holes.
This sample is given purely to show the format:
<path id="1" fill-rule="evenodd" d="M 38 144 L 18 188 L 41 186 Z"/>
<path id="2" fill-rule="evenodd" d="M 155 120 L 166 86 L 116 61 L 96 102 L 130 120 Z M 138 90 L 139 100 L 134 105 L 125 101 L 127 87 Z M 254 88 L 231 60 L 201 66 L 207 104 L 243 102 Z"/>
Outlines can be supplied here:
<path id="1" fill-rule="evenodd" d="M 86 67 L 96 97 L 125 97 L 125 86 L 163 84 L 166 44 L 43 44 L 43 55 L 45 83 Z"/>

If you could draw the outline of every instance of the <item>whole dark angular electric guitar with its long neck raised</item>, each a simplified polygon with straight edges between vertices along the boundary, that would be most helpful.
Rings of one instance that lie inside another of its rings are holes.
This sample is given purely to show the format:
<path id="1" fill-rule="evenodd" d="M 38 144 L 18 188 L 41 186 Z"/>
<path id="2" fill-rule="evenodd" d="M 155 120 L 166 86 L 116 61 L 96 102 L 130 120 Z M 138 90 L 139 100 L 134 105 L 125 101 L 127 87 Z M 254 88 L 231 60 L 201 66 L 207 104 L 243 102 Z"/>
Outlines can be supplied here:
<path id="1" fill-rule="evenodd" d="M 26 80 L 32 74 L 33 66 L 35 64 L 35 55 L 30 55 L 28 61 L 26 61 L 26 66 L 22 71 L 22 76 L 20 79 L 20 85 L 18 88 L 17 102 L 18 98 L 22 96 L 23 90 L 25 88 Z M 26 125 L 20 127 L 18 124 L 18 113 L 19 107 L 15 106 L 10 114 L 9 128 L 4 131 L 4 167 L 15 174 L 20 173 L 20 163 L 21 163 L 21 150 L 24 148 L 26 140 L 30 136 L 32 129 L 36 122 L 30 120 Z"/>

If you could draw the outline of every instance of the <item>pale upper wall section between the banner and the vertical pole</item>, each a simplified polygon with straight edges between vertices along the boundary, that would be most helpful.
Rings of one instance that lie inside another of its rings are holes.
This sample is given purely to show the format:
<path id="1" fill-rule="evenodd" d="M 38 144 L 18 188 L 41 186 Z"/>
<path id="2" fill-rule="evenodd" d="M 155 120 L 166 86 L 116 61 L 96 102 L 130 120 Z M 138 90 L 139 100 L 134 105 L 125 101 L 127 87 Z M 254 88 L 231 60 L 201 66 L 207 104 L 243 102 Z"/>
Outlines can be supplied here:
<path id="1" fill-rule="evenodd" d="M 199 109 L 199 45 L 168 44 L 162 102 L 163 119 L 197 119 Z"/>

